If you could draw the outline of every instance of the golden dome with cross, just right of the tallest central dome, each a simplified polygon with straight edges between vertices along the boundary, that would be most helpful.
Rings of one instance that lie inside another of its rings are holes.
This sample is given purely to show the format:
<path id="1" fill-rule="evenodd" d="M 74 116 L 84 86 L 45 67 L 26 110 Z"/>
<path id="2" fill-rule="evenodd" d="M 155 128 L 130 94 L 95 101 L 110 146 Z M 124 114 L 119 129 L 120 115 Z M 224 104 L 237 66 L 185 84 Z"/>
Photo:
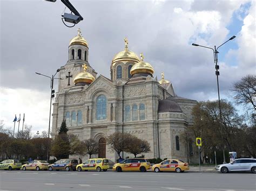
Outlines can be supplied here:
<path id="1" fill-rule="evenodd" d="M 143 61 L 144 56 L 142 53 L 140 53 L 140 57 L 141 57 L 140 61 L 132 66 L 130 70 L 131 75 L 137 74 L 137 73 L 149 73 L 153 75 L 154 73 L 153 67 L 150 65 L 150 63 Z"/>

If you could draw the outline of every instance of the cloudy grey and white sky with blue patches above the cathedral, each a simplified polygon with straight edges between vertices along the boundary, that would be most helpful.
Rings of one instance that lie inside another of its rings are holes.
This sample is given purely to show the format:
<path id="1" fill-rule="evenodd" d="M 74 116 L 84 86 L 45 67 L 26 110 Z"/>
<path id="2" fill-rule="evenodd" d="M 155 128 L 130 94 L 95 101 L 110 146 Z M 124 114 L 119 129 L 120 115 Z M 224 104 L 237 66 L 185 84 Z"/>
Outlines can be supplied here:
<path id="1" fill-rule="evenodd" d="M 62 23 L 65 5 L 60 1 L 0 1 L 0 120 L 5 127 L 13 126 L 15 114 L 25 113 L 25 124 L 32 125 L 33 132 L 48 129 L 50 80 L 35 72 L 52 75 L 65 65 L 78 27 L 98 75 L 110 77 L 111 60 L 123 51 L 127 37 L 129 49 L 144 53 L 159 80 L 164 71 L 178 96 L 214 100 L 213 52 L 191 44 L 214 47 L 233 35 L 237 38 L 219 48 L 221 98 L 227 97 L 232 83 L 255 74 L 254 1 L 70 2 L 84 17 L 72 28 Z"/>

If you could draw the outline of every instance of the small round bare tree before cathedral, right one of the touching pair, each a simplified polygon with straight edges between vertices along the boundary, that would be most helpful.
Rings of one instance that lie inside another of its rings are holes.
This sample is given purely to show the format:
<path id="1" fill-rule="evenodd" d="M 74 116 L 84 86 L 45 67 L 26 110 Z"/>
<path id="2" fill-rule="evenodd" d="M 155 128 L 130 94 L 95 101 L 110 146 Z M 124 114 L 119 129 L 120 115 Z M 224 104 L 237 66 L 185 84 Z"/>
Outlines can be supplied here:
<path id="1" fill-rule="evenodd" d="M 139 139 L 136 136 L 131 136 L 130 143 L 126 151 L 134 154 L 134 157 L 137 157 L 137 154 L 149 152 L 150 144 L 146 140 Z"/>

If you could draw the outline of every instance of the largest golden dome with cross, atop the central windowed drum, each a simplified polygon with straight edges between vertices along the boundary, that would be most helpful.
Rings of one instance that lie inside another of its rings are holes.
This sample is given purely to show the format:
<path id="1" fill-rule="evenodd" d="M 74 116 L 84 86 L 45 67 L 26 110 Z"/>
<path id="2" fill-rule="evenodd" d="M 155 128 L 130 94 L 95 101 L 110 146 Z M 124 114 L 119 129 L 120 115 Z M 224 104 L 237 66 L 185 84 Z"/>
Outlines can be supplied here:
<path id="1" fill-rule="evenodd" d="M 118 61 L 139 61 L 139 57 L 137 56 L 136 53 L 129 51 L 128 49 L 128 40 L 125 37 L 124 39 L 125 41 L 125 48 L 124 51 L 121 51 L 119 53 L 117 53 L 113 60 L 112 60 L 112 65 L 114 66 L 115 63 L 117 63 Z"/>

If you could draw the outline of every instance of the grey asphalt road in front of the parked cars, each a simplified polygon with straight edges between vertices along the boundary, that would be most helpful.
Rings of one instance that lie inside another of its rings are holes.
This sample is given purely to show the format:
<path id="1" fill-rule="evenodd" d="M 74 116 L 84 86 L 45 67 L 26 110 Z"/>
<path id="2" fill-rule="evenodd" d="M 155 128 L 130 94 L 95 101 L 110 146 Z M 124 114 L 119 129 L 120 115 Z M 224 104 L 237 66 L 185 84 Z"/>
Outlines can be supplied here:
<path id="1" fill-rule="evenodd" d="M 0 171 L 0 190 L 256 190 L 256 174 Z"/>

